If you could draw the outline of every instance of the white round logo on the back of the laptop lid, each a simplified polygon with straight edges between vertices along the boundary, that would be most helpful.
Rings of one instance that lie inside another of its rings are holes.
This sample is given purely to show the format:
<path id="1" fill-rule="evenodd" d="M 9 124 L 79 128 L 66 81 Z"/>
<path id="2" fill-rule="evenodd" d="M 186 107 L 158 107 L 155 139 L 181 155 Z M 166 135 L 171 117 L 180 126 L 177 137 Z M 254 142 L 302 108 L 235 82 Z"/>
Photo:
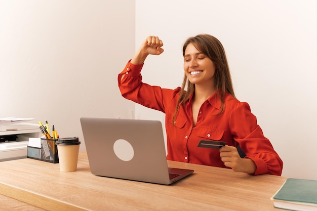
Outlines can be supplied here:
<path id="1" fill-rule="evenodd" d="M 114 142 L 113 151 L 114 154 L 123 161 L 130 161 L 134 156 L 132 145 L 124 139 L 118 139 Z"/>

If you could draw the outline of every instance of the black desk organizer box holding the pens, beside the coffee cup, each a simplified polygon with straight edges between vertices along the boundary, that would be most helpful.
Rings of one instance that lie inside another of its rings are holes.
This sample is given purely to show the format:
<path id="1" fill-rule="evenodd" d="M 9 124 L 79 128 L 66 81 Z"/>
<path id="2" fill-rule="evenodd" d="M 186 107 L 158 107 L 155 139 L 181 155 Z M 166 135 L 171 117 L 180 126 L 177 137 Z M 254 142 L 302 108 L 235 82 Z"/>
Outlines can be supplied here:
<path id="1" fill-rule="evenodd" d="M 27 147 L 27 157 L 58 163 L 57 140 L 41 138 L 41 148 Z"/>

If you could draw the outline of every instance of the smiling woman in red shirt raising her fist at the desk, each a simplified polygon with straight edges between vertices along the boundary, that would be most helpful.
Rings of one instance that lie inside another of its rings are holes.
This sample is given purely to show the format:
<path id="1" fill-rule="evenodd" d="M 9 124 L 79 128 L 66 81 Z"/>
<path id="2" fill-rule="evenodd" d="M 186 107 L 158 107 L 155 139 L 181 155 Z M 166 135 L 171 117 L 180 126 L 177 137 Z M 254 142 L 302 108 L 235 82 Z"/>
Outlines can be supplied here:
<path id="1" fill-rule="evenodd" d="M 122 96 L 166 114 L 167 158 L 248 174 L 281 175 L 283 161 L 264 137 L 248 103 L 234 96 L 224 49 L 212 35 L 189 37 L 183 46 L 184 80 L 175 90 L 142 82 L 148 55 L 163 53 L 163 42 L 148 36 L 118 75 Z M 200 140 L 224 141 L 219 149 Z M 238 149 L 244 152 L 241 157 Z"/>

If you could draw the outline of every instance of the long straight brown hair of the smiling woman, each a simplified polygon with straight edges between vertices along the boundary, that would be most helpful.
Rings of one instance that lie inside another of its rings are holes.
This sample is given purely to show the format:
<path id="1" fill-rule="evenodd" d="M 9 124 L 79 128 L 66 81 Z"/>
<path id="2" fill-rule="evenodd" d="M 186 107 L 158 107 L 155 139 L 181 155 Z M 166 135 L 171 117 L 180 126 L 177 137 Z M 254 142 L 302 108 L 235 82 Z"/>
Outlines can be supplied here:
<path id="1" fill-rule="evenodd" d="M 221 114 L 225 109 L 225 93 L 229 93 L 230 95 L 235 97 L 224 48 L 216 37 L 209 34 L 199 34 L 194 37 L 189 37 L 185 41 L 183 45 L 183 56 L 185 56 L 185 50 L 189 44 L 192 44 L 198 51 L 211 59 L 215 64 L 215 88 L 217 90 L 217 96 L 221 102 L 221 107 L 218 114 Z M 179 107 L 188 101 L 189 96 L 194 92 L 194 90 L 195 85 L 192 84 L 186 77 L 186 74 L 184 74 L 181 92 L 173 116 L 173 124 L 175 122 L 176 114 L 179 110 Z"/>

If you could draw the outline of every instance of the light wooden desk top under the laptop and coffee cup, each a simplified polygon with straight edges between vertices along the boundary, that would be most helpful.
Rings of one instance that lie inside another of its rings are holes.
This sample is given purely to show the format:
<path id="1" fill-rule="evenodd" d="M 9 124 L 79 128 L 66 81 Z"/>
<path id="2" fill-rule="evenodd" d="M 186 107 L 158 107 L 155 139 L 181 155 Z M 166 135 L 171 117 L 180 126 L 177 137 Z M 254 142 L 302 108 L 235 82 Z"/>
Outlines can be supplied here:
<path id="1" fill-rule="evenodd" d="M 47 210 L 267 211 L 275 210 L 270 197 L 286 180 L 175 161 L 169 166 L 195 172 L 167 186 L 94 176 L 86 151 L 71 173 L 60 172 L 58 163 L 11 160 L 0 163 L 0 194 Z"/>

